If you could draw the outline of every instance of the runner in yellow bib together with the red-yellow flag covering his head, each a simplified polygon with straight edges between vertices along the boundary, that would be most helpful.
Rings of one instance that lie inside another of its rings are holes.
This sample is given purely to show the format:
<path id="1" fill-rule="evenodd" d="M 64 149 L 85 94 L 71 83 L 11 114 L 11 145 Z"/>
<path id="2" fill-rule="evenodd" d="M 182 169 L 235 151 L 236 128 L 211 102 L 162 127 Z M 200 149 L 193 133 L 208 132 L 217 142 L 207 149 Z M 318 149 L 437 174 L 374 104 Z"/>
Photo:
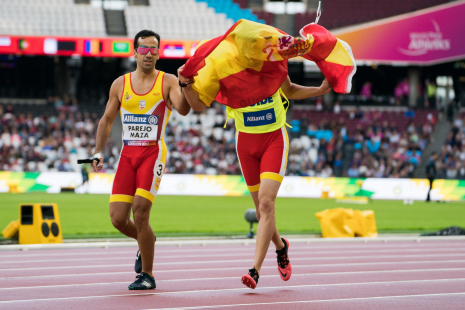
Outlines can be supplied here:
<path id="1" fill-rule="evenodd" d="M 286 171 L 289 141 L 281 95 L 304 99 L 332 88 L 348 93 L 356 71 L 350 46 L 316 23 L 294 38 L 281 30 L 247 20 L 236 22 L 223 36 L 201 42 L 178 70 L 185 96 L 194 111 L 216 100 L 235 119 L 236 149 L 259 225 L 255 258 L 242 283 L 255 288 L 266 252 L 273 241 L 284 281 L 292 272 L 289 242 L 276 229 L 275 200 Z M 293 84 L 287 60 L 302 56 L 314 61 L 327 80 L 320 87 Z"/>

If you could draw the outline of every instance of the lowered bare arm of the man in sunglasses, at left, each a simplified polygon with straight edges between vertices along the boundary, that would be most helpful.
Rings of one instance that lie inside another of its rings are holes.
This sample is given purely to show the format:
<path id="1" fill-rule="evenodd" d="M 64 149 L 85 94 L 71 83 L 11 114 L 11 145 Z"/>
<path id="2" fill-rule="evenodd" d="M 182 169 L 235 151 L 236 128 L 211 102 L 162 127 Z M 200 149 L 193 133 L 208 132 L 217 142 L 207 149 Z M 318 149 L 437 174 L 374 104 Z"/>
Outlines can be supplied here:
<path id="1" fill-rule="evenodd" d="M 124 86 L 124 76 L 117 78 L 110 88 L 110 96 L 108 98 L 107 107 L 97 127 L 97 138 L 95 141 L 95 154 L 102 153 L 105 143 L 107 143 L 108 136 L 110 135 L 111 128 L 113 127 L 113 121 L 118 114 L 120 98 L 118 94 L 121 94 Z M 103 168 L 103 154 L 100 159 L 100 163 L 92 162 L 92 169 L 94 172 L 99 172 Z"/>

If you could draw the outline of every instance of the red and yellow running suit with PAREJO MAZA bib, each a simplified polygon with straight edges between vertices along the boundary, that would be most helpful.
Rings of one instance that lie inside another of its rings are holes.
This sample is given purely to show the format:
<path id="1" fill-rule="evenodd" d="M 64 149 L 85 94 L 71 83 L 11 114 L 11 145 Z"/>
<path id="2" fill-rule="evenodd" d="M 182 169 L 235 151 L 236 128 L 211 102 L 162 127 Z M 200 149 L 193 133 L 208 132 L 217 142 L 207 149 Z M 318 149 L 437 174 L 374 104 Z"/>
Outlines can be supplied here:
<path id="1" fill-rule="evenodd" d="M 152 89 L 134 92 L 131 74 L 124 76 L 121 98 L 123 142 L 110 202 L 132 203 L 134 195 L 151 202 L 155 199 L 165 171 L 167 147 L 163 140 L 171 109 L 163 97 L 163 77 L 159 71 Z"/>

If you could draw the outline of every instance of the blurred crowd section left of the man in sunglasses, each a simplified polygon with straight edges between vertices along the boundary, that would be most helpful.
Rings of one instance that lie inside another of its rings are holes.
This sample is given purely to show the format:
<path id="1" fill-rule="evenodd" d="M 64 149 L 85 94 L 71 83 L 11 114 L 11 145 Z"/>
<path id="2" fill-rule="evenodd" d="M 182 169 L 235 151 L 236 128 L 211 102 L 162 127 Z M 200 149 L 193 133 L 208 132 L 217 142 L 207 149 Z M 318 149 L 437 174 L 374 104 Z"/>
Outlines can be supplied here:
<path id="1" fill-rule="evenodd" d="M 0 105 L 0 170 L 79 171 L 77 158 L 92 154 L 101 115 L 80 111 L 75 100 L 65 105 L 60 98 L 52 97 L 49 103 L 50 113 L 33 113 L 33 109 L 21 105 Z M 119 151 L 111 139 L 105 153 L 109 158 L 107 170 L 115 170 Z"/>

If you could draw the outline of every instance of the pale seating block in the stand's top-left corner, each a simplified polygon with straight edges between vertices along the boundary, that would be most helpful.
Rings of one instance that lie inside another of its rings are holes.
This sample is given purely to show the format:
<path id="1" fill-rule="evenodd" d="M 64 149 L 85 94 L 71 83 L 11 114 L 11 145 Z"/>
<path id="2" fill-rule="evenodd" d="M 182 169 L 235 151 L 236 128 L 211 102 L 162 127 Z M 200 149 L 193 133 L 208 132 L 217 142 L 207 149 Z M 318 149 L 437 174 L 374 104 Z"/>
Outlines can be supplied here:
<path id="1" fill-rule="evenodd" d="M 0 31 L 10 35 L 106 36 L 101 8 L 73 0 L 2 1 Z"/>

